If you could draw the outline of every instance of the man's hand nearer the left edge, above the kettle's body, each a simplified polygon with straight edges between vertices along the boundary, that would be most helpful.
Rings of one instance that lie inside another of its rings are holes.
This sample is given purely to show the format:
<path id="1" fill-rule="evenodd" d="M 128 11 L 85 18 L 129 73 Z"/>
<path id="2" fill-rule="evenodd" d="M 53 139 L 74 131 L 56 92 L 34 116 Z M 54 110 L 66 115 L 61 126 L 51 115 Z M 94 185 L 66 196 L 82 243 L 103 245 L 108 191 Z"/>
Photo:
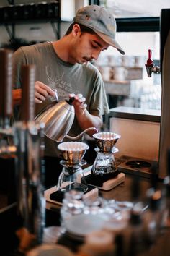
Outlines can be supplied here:
<path id="1" fill-rule="evenodd" d="M 35 103 L 42 103 L 46 98 L 55 96 L 55 92 L 43 82 L 35 82 Z"/>

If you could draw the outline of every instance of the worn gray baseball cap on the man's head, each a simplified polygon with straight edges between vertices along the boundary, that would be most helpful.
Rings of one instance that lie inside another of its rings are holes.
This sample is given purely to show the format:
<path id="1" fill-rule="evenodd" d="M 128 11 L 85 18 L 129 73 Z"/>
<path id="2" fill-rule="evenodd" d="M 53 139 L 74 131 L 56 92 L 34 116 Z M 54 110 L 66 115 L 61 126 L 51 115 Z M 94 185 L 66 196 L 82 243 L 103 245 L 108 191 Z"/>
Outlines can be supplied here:
<path id="1" fill-rule="evenodd" d="M 88 5 L 80 8 L 76 12 L 76 17 L 73 21 L 84 25 L 94 30 L 106 43 L 120 51 L 120 54 L 125 54 L 122 47 L 115 40 L 116 22 L 112 13 L 99 5 Z"/>

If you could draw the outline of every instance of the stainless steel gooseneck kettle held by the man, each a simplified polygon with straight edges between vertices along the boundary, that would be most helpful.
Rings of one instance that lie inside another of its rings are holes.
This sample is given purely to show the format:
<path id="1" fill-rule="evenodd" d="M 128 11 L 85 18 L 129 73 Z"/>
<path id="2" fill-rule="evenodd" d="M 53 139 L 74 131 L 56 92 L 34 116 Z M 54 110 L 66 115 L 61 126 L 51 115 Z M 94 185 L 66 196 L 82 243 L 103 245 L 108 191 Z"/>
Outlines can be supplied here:
<path id="1" fill-rule="evenodd" d="M 67 135 L 71 129 L 75 116 L 75 110 L 72 105 L 73 100 L 74 98 L 70 98 L 68 101 L 58 101 L 57 103 L 55 101 L 42 109 L 42 111 L 35 117 L 35 122 L 45 124 L 44 133 L 51 140 L 61 142 L 64 137 L 68 137 L 70 140 L 79 140 L 85 132 L 91 129 L 98 132 L 97 128 L 89 127 L 76 137 Z"/>

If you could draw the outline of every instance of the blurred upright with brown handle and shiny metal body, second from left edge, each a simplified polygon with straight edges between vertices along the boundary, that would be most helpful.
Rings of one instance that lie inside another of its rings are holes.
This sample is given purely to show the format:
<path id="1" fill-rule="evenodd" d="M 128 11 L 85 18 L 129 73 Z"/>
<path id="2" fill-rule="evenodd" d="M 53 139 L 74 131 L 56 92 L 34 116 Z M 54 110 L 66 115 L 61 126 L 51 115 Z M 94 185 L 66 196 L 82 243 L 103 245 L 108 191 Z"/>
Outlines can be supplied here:
<path id="1" fill-rule="evenodd" d="M 14 123 L 17 148 L 15 167 L 17 181 L 18 251 L 26 253 L 42 244 L 45 226 L 45 198 L 42 184 L 43 124 L 34 121 L 35 66 L 22 66 L 22 105 L 20 121 Z"/>

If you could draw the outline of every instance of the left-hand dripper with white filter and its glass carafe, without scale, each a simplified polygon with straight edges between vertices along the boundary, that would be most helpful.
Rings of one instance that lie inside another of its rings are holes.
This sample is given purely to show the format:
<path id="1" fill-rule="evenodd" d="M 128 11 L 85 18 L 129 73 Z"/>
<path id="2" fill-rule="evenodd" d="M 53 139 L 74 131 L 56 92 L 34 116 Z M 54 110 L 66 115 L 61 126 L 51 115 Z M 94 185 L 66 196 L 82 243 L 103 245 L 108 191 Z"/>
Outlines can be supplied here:
<path id="1" fill-rule="evenodd" d="M 66 192 L 74 189 L 86 192 L 88 187 L 81 166 L 86 164 L 82 158 L 88 148 L 89 146 L 84 142 L 63 142 L 58 145 L 63 157 L 60 162 L 63 170 L 58 179 L 58 190 Z"/>

